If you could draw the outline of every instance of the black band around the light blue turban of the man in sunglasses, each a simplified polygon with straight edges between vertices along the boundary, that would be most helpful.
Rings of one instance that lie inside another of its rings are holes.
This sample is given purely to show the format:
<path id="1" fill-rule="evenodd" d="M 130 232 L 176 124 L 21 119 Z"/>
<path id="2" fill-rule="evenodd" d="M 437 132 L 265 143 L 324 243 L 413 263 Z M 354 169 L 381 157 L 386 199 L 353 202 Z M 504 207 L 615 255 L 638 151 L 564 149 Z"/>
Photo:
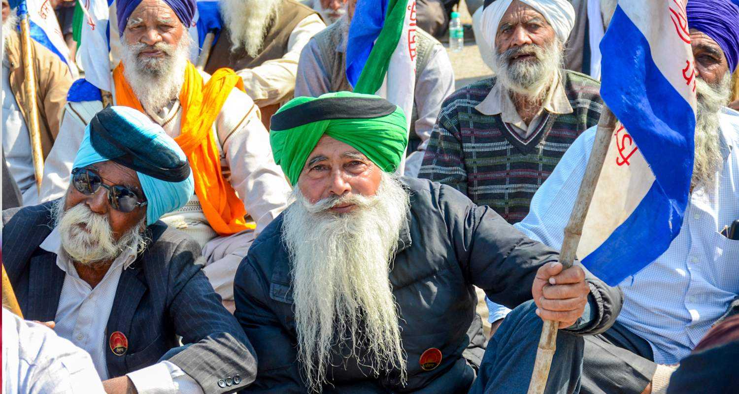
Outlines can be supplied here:
<path id="1" fill-rule="evenodd" d="M 89 126 L 92 148 L 109 160 L 166 182 L 190 176 L 187 160 L 171 149 L 152 149 L 151 135 L 139 132 L 110 106 L 95 114 Z"/>

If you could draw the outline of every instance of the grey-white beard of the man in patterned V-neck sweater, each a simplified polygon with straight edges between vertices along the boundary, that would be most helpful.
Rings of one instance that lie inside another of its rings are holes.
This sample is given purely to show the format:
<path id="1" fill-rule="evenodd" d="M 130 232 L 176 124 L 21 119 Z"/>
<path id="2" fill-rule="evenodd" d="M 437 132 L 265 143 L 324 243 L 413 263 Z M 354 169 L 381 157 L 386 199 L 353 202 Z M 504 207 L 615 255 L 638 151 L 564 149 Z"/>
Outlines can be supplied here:
<path id="1" fill-rule="evenodd" d="M 537 59 L 511 64 L 514 55 L 523 54 L 535 55 Z M 537 101 L 548 92 L 554 73 L 562 68 L 562 59 L 562 44 L 556 39 L 547 47 L 536 44 L 513 47 L 495 55 L 497 82 L 503 85 L 504 91 Z"/>

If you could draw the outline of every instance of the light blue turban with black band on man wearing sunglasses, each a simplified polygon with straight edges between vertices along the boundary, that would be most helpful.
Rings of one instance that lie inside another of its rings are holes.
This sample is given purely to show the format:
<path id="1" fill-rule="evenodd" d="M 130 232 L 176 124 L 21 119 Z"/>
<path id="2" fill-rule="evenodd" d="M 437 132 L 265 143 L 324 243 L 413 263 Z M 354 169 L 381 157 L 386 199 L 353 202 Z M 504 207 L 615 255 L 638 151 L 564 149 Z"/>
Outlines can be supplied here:
<path id="1" fill-rule="evenodd" d="M 146 224 L 185 206 L 195 191 L 185 153 L 157 123 L 126 106 L 109 106 L 85 128 L 72 169 L 115 161 L 136 171 L 146 197 Z"/>

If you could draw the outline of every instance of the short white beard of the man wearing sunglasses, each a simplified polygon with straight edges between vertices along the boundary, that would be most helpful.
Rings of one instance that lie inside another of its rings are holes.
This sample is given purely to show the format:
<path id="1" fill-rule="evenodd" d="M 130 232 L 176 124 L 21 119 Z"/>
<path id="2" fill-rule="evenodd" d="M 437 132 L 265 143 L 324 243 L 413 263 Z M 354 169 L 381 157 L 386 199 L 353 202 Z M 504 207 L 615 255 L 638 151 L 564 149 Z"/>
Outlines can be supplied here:
<path id="1" fill-rule="evenodd" d="M 148 239 L 143 234 L 146 218 L 116 241 L 106 215 L 96 214 L 82 203 L 64 211 L 65 200 L 56 203 L 52 214 L 61 235 L 61 247 L 75 262 L 94 267 L 111 262 L 123 251 L 140 253 L 146 248 Z"/>

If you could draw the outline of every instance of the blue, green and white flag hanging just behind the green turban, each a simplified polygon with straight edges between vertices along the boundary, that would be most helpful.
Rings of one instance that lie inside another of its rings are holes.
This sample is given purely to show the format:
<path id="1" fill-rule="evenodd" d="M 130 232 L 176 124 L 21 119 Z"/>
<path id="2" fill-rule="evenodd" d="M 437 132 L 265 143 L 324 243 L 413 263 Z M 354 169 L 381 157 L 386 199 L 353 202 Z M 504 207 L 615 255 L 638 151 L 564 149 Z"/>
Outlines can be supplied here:
<path id="1" fill-rule="evenodd" d="M 415 0 L 358 0 L 347 38 L 347 81 L 354 92 L 400 106 L 406 131 L 415 91 L 416 28 Z"/>

